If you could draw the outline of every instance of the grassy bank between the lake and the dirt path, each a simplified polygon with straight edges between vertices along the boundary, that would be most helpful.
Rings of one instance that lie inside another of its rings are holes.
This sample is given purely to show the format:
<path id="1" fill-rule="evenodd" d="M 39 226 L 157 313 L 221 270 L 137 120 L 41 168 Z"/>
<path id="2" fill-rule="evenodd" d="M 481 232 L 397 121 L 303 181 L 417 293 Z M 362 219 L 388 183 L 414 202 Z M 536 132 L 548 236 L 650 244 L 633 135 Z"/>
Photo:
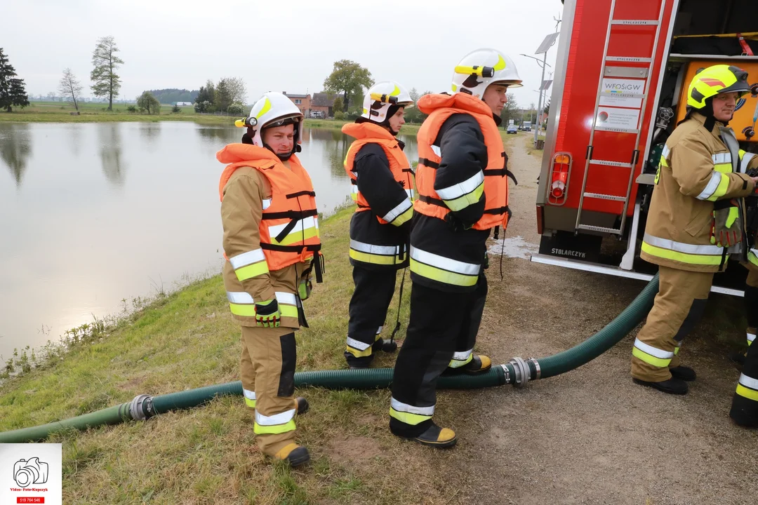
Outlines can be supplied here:
<path id="1" fill-rule="evenodd" d="M 351 212 L 343 210 L 321 226 L 326 282 L 305 302 L 311 328 L 297 334 L 299 370 L 345 366 Z M 407 283 L 406 290 L 404 321 Z M 395 311 L 393 301 L 387 326 Z M 104 338 L 75 345 L 52 366 L 0 386 L 0 431 L 77 416 L 136 394 L 236 380 L 239 340 L 221 278 L 196 282 L 140 310 Z M 393 360 L 381 354 L 377 365 Z M 443 480 L 440 472 L 452 454 L 389 434 L 389 391 L 308 388 L 298 394 L 312 404 L 297 419 L 299 440 L 312 451 L 309 468 L 294 472 L 268 463 L 255 446 L 252 416 L 241 397 L 229 397 L 148 422 L 54 435 L 50 441 L 63 443 L 64 503 L 444 503 L 456 492 L 457 479 Z M 446 404 L 440 422 L 455 415 L 453 401 Z"/>

